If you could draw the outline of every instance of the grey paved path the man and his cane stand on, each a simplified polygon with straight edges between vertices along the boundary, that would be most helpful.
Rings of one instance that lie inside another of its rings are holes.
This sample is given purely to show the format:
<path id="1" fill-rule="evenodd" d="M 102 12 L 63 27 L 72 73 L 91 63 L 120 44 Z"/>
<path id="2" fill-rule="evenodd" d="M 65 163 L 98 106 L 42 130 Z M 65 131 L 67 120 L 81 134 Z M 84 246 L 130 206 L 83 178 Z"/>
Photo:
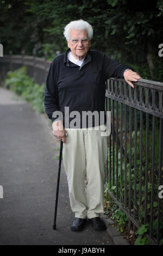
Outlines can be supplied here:
<path id="1" fill-rule="evenodd" d="M 112 245 L 108 233 L 89 222 L 82 232 L 70 230 L 74 215 L 63 165 L 52 229 L 59 143 L 47 119 L 16 98 L 0 87 L 0 245 Z"/>

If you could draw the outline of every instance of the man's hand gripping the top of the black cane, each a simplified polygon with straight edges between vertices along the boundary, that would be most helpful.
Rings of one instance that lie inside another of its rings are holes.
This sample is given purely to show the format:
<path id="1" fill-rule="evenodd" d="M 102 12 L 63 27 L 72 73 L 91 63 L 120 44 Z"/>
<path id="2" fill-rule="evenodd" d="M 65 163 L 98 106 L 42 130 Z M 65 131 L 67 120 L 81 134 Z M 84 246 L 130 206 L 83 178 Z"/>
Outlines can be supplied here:
<path id="1" fill-rule="evenodd" d="M 53 127 L 53 135 L 58 139 L 58 141 L 62 141 L 65 143 L 65 127 L 62 125 L 62 121 L 54 121 L 52 124 Z"/>

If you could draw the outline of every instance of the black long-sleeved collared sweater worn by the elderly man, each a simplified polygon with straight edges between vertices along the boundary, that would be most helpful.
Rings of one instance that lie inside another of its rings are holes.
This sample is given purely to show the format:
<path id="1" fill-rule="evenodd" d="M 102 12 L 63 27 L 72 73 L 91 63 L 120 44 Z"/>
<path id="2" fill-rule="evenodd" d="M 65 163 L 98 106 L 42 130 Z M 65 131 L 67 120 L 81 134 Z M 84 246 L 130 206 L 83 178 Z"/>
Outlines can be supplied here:
<path id="1" fill-rule="evenodd" d="M 105 81 L 110 77 L 124 78 L 124 70 L 131 69 L 96 50 L 87 52 L 80 67 L 68 60 L 68 51 L 70 48 L 55 57 L 48 71 L 44 105 L 52 121 L 57 119 L 52 117 L 55 111 L 61 111 L 65 118 L 65 107 L 69 107 L 70 112 L 78 111 L 80 114 L 82 111 L 105 111 Z"/>

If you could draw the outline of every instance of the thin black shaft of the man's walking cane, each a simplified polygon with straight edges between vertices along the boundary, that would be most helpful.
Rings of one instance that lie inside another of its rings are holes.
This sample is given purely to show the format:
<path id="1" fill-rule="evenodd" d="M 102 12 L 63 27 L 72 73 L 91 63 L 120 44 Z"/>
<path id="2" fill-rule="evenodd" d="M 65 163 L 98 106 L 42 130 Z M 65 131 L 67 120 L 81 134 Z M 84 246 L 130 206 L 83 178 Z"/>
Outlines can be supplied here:
<path id="1" fill-rule="evenodd" d="M 61 141 L 61 143 L 60 143 L 60 154 L 59 154 L 58 179 L 57 179 L 57 191 L 56 191 L 56 197 L 55 197 L 55 212 L 54 212 L 53 229 L 56 229 L 58 194 L 59 194 L 59 181 L 60 181 L 60 169 L 61 169 L 61 161 L 62 161 L 62 148 L 63 148 L 63 142 Z"/>

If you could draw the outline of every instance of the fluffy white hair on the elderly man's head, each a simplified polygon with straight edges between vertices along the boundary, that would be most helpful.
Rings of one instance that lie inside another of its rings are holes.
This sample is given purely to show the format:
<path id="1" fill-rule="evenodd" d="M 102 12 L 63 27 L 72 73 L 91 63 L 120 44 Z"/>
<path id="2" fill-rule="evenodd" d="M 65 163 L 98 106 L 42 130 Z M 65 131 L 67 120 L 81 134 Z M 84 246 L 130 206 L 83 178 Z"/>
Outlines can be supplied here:
<path id="1" fill-rule="evenodd" d="M 89 39 L 92 39 L 93 36 L 93 28 L 92 26 L 84 21 L 84 20 L 78 20 L 78 21 L 71 21 L 70 23 L 68 23 L 65 27 L 65 31 L 64 31 L 64 36 L 66 38 L 66 40 L 70 40 L 70 33 L 72 29 L 76 29 L 76 30 L 87 30 L 87 35 L 89 37 Z"/>

